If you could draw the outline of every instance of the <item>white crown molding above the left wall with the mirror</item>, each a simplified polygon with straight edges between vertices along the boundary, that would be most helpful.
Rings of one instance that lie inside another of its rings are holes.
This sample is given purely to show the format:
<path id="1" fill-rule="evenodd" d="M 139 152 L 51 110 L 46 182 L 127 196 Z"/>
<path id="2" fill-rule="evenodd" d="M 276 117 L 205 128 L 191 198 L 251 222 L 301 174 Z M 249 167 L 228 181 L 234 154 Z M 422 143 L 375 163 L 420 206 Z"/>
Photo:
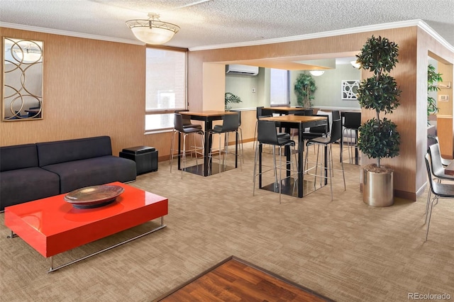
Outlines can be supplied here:
<path id="1" fill-rule="evenodd" d="M 36 31 L 38 33 L 51 33 L 54 35 L 67 35 L 67 36 L 76 37 L 76 38 L 102 40 L 102 41 L 109 41 L 109 42 L 116 42 L 116 43 L 145 45 L 145 43 L 140 42 L 139 40 L 111 38 L 111 37 L 106 37 L 104 35 L 89 35 L 86 33 L 74 33 L 72 31 L 67 31 L 67 30 L 57 30 L 57 29 L 37 27 L 37 26 L 25 26 L 25 25 L 16 24 L 16 23 L 0 22 L 0 27 Z"/>

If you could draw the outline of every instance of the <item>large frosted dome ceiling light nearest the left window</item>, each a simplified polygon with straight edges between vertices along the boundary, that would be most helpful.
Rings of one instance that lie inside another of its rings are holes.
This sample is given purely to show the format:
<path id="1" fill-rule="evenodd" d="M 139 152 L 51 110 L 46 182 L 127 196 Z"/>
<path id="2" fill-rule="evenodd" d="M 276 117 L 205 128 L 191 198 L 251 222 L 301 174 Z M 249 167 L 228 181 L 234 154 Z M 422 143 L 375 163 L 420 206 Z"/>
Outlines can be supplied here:
<path id="1" fill-rule="evenodd" d="M 175 24 L 160 21 L 157 13 L 148 13 L 148 20 L 128 20 L 126 26 L 131 28 L 135 38 L 153 45 L 169 42 L 179 30 Z"/>

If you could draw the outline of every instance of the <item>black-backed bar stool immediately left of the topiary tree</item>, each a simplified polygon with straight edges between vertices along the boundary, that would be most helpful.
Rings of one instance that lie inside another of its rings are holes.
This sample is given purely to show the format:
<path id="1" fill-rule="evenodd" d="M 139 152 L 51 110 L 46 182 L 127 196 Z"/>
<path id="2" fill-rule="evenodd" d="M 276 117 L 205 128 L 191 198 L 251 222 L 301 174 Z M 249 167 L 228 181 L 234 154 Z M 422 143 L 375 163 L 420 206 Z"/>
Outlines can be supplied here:
<path id="1" fill-rule="evenodd" d="M 343 132 L 342 132 L 342 144 L 341 154 L 343 152 L 343 146 L 347 145 L 348 150 L 348 162 L 353 164 L 353 150 L 355 154 L 358 152 L 358 129 L 361 126 L 361 113 L 360 112 L 345 112 L 343 113 Z M 342 159 L 342 156 L 341 156 Z M 356 162 L 356 161 L 355 161 Z"/>

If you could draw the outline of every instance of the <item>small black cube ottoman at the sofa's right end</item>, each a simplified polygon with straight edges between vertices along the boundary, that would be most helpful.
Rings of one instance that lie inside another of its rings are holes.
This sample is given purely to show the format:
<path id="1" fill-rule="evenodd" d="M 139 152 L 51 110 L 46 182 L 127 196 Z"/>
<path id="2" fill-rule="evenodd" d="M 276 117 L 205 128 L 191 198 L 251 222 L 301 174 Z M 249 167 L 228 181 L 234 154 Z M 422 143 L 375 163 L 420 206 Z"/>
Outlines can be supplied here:
<path id="1" fill-rule="evenodd" d="M 137 174 L 157 171 L 157 150 L 153 147 L 137 146 L 121 150 L 120 157 L 133 160 Z"/>

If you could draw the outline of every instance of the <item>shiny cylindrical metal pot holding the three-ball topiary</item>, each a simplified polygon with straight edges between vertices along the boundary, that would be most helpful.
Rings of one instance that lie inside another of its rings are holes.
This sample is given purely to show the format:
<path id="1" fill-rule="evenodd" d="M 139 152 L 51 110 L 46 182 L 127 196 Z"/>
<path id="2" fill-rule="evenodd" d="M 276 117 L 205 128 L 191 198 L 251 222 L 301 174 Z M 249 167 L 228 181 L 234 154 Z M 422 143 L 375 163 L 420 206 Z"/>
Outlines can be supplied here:
<path id="1" fill-rule="evenodd" d="M 394 204 L 393 172 L 377 173 L 364 170 L 362 201 L 369 206 Z"/>

